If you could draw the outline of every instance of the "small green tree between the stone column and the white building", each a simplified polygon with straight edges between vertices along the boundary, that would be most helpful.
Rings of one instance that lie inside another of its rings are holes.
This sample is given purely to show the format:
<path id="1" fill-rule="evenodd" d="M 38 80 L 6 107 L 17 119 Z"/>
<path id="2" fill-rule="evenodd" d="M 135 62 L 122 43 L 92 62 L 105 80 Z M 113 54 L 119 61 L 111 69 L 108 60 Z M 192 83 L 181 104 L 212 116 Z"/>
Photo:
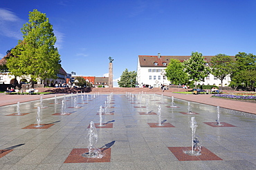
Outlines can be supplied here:
<path id="1" fill-rule="evenodd" d="M 128 69 L 125 69 L 120 76 L 120 81 L 118 81 L 119 87 L 135 87 L 136 76 L 136 71 L 128 72 Z"/>

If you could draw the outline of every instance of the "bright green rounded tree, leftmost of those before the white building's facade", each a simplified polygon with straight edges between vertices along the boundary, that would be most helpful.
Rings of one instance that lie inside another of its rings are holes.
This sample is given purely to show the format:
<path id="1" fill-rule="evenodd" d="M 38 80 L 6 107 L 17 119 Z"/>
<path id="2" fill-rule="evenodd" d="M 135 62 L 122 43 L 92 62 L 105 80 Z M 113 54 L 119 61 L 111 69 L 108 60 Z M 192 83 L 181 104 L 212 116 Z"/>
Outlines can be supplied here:
<path id="1" fill-rule="evenodd" d="M 188 83 L 188 74 L 185 72 L 185 66 L 177 59 L 170 59 L 165 72 L 167 79 L 174 85 Z"/>

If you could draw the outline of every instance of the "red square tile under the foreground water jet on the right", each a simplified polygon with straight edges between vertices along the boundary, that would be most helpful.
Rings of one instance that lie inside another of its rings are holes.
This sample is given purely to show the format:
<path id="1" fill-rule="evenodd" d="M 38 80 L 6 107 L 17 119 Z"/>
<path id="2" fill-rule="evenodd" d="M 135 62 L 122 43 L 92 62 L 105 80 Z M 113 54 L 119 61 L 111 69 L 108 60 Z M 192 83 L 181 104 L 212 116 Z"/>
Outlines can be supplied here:
<path id="1" fill-rule="evenodd" d="M 201 148 L 201 156 L 190 156 L 184 151 L 190 151 L 191 147 L 168 147 L 170 151 L 176 156 L 179 161 L 187 161 L 187 160 L 222 160 L 219 156 L 215 155 L 205 147 Z"/>

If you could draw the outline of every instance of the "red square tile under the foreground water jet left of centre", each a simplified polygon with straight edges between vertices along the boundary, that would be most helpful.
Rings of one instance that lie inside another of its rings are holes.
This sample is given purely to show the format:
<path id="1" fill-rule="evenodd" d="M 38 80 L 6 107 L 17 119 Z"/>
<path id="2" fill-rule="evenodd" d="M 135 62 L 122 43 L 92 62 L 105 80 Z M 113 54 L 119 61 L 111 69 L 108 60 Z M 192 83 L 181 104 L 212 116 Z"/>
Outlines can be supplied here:
<path id="1" fill-rule="evenodd" d="M 85 158 L 82 154 L 88 152 L 88 149 L 73 149 L 64 163 L 110 162 L 111 148 L 102 148 L 100 150 L 104 155 L 102 158 Z"/>

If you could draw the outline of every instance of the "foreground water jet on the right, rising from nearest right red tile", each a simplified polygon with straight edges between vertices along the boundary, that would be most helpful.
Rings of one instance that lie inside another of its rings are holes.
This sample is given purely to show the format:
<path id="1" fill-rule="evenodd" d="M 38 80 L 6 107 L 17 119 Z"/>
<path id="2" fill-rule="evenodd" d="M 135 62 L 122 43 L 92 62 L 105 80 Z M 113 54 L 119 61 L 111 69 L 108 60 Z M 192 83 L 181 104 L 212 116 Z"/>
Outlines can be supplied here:
<path id="1" fill-rule="evenodd" d="M 184 151 L 184 153 L 190 156 L 201 156 L 201 145 L 199 145 L 199 139 L 194 136 L 196 133 L 196 120 L 194 117 L 190 120 L 191 136 L 192 136 L 192 150 Z"/>

